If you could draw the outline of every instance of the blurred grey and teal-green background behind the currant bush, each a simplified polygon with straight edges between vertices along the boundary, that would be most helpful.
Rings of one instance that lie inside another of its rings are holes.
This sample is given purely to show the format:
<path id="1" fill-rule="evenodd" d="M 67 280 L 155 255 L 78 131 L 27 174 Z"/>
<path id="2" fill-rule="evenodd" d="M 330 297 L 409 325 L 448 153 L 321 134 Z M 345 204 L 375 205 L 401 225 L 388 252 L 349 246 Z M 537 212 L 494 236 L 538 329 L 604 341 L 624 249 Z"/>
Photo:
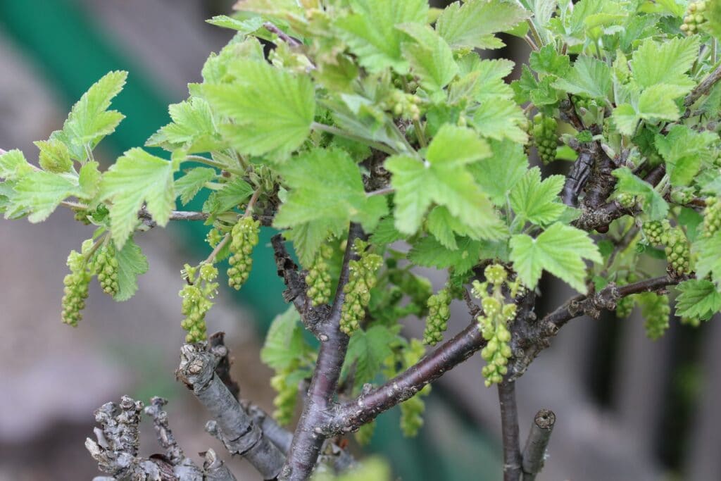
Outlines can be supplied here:
<path id="1" fill-rule="evenodd" d="M 441 4 L 442 2 L 435 2 Z M 187 97 L 211 51 L 232 35 L 203 22 L 231 10 L 226 0 L 0 0 L 0 147 L 37 159 L 32 141 L 61 128 L 71 105 L 110 70 L 130 72 L 113 103 L 126 115 L 96 156 L 105 164 L 169 122 L 167 105 Z M 507 37 L 496 56 L 527 58 Z M 565 166 L 557 167 L 565 169 Z M 83 443 L 95 408 L 122 394 L 169 399 L 171 427 L 188 454 L 213 447 L 207 416 L 174 381 L 180 329 L 180 269 L 207 256 L 200 224 L 136 236 L 150 270 L 138 294 L 117 304 L 93 284 L 77 329 L 60 322 L 62 279 L 71 249 L 92 229 L 58 211 L 44 224 L 0 219 L 0 481 L 89 480 L 97 475 Z M 272 233 L 264 232 L 261 247 Z M 431 271 L 436 286 L 444 279 Z M 208 330 L 224 330 L 242 396 L 272 411 L 272 371 L 260 363 L 262 336 L 284 306 L 269 248 L 256 250 L 249 283 L 221 289 Z M 550 279 L 536 307 L 544 314 L 572 293 Z M 449 332 L 469 322 L 454 304 Z M 407 332 L 423 331 L 411 320 Z M 483 387 L 474 356 L 436 384 L 426 424 L 402 438 L 398 412 L 379 418 L 368 451 L 404 480 L 497 480 L 497 395 Z M 721 480 L 721 323 L 696 330 L 672 322 L 656 343 L 637 313 L 616 321 L 572 321 L 518 381 L 521 437 L 534 412 L 557 423 L 539 480 Z M 143 454 L 160 451 L 146 423 Z M 224 456 L 227 457 L 227 456 Z M 256 480 L 229 460 L 239 480 Z"/>

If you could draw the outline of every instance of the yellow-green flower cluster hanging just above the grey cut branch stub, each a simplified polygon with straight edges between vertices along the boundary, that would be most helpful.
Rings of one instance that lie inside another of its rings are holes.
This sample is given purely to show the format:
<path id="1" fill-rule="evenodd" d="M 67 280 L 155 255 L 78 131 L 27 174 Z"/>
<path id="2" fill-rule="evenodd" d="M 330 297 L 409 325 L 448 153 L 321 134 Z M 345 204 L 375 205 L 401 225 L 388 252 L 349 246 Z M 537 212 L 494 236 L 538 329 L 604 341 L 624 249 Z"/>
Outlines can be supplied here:
<path id="1" fill-rule="evenodd" d="M 199 343 L 207 337 L 205 314 L 213 306 L 213 299 L 218 294 L 218 269 L 212 264 L 201 264 L 198 267 L 185 265 L 182 272 L 185 286 L 178 295 L 182 297 L 182 314 L 185 319 L 180 326 L 187 331 L 186 343 Z"/>

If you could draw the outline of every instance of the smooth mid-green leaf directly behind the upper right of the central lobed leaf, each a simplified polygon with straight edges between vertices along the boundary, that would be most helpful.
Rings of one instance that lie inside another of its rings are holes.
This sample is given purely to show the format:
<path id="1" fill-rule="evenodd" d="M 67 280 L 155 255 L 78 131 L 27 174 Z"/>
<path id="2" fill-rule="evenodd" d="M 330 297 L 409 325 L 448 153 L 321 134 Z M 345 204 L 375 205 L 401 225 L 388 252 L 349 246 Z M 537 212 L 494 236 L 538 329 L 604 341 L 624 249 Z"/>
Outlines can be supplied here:
<path id="1" fill-rule="evenodd" d="M 528 157 L 516 142 L 490 141 L 492 156 L 469 166 L 477 184 L 496 206 L 505 206 L 506 195 L 528 170 Z"/>

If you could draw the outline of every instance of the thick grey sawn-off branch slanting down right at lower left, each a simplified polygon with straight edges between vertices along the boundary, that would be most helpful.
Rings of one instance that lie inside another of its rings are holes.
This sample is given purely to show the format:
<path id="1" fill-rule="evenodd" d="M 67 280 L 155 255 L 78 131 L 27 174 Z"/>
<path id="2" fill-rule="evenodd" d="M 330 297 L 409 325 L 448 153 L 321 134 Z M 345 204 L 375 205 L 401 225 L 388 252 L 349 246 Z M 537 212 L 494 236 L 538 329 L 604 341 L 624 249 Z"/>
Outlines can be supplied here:
<path id="1" fill-rule="evenodd" d="M 186 344 L 176 374 L 211 412 L 209 431 L 221 438 L 231 454 L 244 456 L 265 480 L 278 477 L 285 456 L 263 435 L 233 394 L 215 374 L 216 356 L 202 345 Z"/>

